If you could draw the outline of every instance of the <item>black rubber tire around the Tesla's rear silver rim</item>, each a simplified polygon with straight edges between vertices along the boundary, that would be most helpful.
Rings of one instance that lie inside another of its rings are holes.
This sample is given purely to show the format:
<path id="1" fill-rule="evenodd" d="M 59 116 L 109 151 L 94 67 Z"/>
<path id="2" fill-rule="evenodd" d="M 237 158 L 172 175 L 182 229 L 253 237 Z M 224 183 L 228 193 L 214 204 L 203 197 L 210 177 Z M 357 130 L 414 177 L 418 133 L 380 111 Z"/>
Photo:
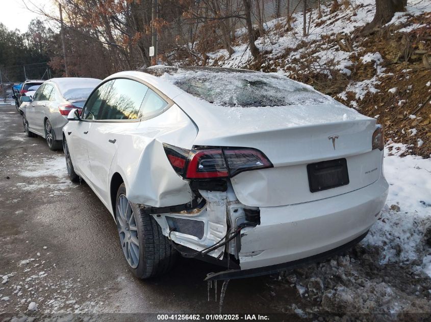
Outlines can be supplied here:
<path id="1" fill-rule="evenodd" d="M 153 216 L 144 214 L 137 204 L 129 201 L 128 202 L 132 209 L 132 216 L 135 218 L 137 237 L 139 241 L 139 260 L 137 261 L 137 267 L 132 267 L 126 257 L 126 251 L 121 245 L 122 232 L 120 221 L 118 219 L 118 216 L 120 216 L 119 199 L 120 196 L 124 196 L 125 198 L 125 192 L 125 186 L 124 184 L 121 184 L 118 188 L 115 200 L 115 214 L 118 233 L 120 235 L 120 246 L 123 250 L 124 258 L 128 263 L 129 269 L 140 279 L 164 275 L 173 267 L 176 258 L 178 258 L 178 252 L 176 252 L 172 247 L 169 239 L 163 235 L 162 228 Z"/>

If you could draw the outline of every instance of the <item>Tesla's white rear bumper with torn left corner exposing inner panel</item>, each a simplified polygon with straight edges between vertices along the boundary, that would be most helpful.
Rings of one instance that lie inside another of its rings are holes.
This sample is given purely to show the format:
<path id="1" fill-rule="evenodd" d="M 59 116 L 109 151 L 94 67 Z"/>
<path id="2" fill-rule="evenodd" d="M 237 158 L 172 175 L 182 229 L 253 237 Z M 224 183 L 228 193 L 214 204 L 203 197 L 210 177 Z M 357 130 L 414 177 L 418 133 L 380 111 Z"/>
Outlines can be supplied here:
<path id="1" fill-rule="evenodd" d="M 241 204 L 231 188 L 199 190 L 206 199 L 202 209 L 154 216 L 183 256 L 224 266 L 208 280 L 244 278 L 309 264 L 352 247 L 378 218 L 388 188 L 381 175 L 373 184 L 338 196 L 255 210 Z M 257 220 L 247 219 L 249 211 L 258 214 Z M 171 222 L 175 218 L 185 224 Z M 237 235 L 228 241 L 232 231 Z M 222 247 L 212 249 L 217 244 Z M 202 256 L 206 249 L 211 252 Z"/>

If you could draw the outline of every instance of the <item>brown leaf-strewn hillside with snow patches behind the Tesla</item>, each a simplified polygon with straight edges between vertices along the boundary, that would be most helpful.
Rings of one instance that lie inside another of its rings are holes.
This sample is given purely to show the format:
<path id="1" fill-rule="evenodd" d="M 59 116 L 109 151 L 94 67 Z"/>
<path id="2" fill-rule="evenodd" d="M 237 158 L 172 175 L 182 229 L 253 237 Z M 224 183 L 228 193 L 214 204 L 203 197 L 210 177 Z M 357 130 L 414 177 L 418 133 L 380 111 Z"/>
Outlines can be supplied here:
<path id="1" fill-rule="evenodd" d="M 302 36 L 302 13 L 266 23 L 256 41 L 261 51 L 254 60 L 245 30 L 237 31 L 235 53 L 224 49 L 206 60 L 170 57 L 175 65 L 203 65 L 278 72 L 313 85 L 385 125 L 388 143 L 408 144 L 404 154 L 431 154 L 431 0 L 409 0 L 381 30 L 361 36 L 372 20 L 375 2 L 345 1 L 332 13 L 322 7 L 311 14 L 309 35 Z M 309 19 L 307 15 L 307 19 Z M 429 64 L 429 63 L 428 63 Z"/>

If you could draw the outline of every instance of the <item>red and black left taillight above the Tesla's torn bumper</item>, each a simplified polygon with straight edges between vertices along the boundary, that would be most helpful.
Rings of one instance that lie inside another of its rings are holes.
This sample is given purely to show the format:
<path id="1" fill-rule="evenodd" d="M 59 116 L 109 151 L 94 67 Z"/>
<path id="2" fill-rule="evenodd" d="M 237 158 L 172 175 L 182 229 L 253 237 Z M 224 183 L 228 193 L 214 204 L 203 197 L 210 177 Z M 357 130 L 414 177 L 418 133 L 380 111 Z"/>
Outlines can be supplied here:
<path id="1" fill-rule="evenodd" d="M 188 180 L 232 178 L 243 171 L 273 166 L 262 152 L 251 148 L 186 150 L 163 146 L 173 169 Z"/>

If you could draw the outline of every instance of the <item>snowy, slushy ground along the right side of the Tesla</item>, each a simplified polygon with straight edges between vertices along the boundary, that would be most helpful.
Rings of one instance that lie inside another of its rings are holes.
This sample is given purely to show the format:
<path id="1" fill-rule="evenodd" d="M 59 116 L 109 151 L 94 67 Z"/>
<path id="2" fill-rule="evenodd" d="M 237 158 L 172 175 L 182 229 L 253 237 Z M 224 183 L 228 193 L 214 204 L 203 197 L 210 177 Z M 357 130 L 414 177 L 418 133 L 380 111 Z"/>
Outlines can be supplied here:
<path id="1" fill-rule="evenodd" d="M 358 246 L 278 276 L 303 299 L 292 312 L 309 318 L 381 313 L 394 321 L 410 321 L 410 313 L 431 316 L 431 159 L 399 156 L 409 148 L 387 144 L 387 204 Z"/>

